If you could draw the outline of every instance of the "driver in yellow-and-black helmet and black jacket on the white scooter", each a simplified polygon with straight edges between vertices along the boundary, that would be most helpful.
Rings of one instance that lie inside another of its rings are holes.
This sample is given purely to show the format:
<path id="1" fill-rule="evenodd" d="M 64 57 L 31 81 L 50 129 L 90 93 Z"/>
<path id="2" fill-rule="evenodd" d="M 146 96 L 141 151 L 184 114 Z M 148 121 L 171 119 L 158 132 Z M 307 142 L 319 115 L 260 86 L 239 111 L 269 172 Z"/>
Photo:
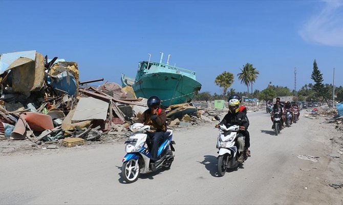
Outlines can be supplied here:
<path id="1" fill-rule="evenodd" d="M 229 100 L 229 112 L 225 115 L 220 124 L 225 126 L 238 125 L 240 126 L 241 131 L 245 131 L 249 127 L 248 117 L 244 112 L 240 111 L 240 101 L 238 99 L 233 98 Z M 219 128 L 220 124 L 215 127 Z M 237 142 L 239 145 L 239 158 L 237 161 L 242 163 L 244 161 L 244 136 L 238 137 Z"/>

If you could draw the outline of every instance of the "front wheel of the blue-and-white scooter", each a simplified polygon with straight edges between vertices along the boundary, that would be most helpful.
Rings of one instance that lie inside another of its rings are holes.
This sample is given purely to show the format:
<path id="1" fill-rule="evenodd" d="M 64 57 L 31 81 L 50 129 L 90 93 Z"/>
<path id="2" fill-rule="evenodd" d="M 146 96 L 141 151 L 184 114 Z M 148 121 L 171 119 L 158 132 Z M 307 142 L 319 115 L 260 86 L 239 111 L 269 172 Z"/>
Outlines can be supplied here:
<path id="1" fill-rule="evenodd" d="M 137 169 L 134 170 L 136 165 Z M 123 163 L 123 166 L 121 167 L 121 177 L 123 177 L 124 181 L 127 183 L 133 183 L 138 180 L 139 174 L 140 168 L 138 160 L 130 159 Z"/>

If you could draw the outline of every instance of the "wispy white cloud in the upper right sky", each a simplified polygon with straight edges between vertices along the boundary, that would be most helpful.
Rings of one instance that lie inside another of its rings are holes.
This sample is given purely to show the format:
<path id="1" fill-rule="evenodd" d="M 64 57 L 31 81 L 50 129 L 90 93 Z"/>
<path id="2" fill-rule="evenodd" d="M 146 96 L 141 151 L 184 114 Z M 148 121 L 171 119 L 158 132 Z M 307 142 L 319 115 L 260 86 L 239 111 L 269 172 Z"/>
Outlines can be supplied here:
<path id="1" fill-rule="evenodd" d="M 325 7 L 299 31 L 304 40 L 343 47 L 343 2 L 324 1 Z"/>

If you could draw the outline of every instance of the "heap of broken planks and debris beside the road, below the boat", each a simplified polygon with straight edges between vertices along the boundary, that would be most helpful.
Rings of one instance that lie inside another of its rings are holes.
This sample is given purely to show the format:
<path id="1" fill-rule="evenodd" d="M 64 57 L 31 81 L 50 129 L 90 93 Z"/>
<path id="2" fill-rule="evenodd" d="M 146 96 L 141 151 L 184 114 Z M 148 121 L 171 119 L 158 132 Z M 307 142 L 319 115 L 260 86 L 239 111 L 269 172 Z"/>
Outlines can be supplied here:
<path id="1" fill-rule="evenodd" d="M 88 85 L 97 81 L 103 78 L 79 81 L 73 61 L 48 59 L 36 51 L 2 54 L 0 139 L 28 139 L 36 147 L 54 149 L 51 144 L 72 146 L 130 136 L 131 121 L 125 116 L 137 119 L 147 109 L 146 99 L 137 99 L 131 87 L 108 81 L 98 87 Z M 171 129 L 211 121 L 210 111 L 191 103 L 170 106 L 166 112 Z"/>

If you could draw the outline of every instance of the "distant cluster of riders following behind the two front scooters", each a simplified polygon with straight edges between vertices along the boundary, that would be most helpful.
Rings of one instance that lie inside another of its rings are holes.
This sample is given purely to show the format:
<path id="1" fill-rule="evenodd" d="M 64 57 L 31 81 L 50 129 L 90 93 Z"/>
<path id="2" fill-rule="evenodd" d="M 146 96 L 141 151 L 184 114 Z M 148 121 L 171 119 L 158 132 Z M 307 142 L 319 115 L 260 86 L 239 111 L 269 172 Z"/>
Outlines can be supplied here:
<path id="1" fill-rule="evenodd" d="M 268 107 L 268 105 L 267 105 Z M 285 101 L 285 104 L 281 103 L 280 97 L 276 98 L 276 103 L 272 106 L 272 110 L 270 112 L 270 119 L 272 122 L 274 122 L 274 114 L 278 113 L 278 115 L 281 117 L 281 129 L 285 128 L 285 121 L 286 116 L 285 113 L 290 112 L 291 118 L 290 118 L 290 125 L 293 124 L 293 122 L 296 122 L 296 119 L 299 119 L 300 116 L 300 109 L 296 101 L 291 104 L 290 101 Z M 274 124 L 271 129 L 274 129 Z"/>

